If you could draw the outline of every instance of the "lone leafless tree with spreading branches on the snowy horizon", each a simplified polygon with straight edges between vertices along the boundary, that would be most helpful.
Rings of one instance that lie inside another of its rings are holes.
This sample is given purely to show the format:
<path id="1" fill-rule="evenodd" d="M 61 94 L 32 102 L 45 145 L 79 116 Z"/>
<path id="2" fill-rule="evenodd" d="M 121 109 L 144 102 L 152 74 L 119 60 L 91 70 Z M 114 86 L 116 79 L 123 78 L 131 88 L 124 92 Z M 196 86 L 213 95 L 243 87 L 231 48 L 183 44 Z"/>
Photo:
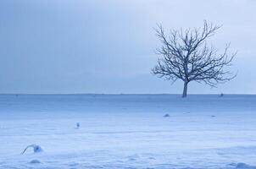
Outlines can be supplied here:
<path id="1" fill-rule="evenodd" d="M 162 46 L 157 52 L 161 57 L 152 73 L 172 83 L 181 79 L 184 82 L 182 97 L 186 97 L 187 85 L 191 81 L 215 87 L 235 78 L 237 74 L 225 68 L 231 66 L 237 52 L 229 55 L 230 45 L 226 45 L 224 52 L 218 54 L 214 46 L 207 43 L 207 39 L 219 29 L 220 26 L 204 21 L 201 29 L 170 30 L 170 35 L 166 35 L 163 26 L 158 25 L 155 30 Z"/>

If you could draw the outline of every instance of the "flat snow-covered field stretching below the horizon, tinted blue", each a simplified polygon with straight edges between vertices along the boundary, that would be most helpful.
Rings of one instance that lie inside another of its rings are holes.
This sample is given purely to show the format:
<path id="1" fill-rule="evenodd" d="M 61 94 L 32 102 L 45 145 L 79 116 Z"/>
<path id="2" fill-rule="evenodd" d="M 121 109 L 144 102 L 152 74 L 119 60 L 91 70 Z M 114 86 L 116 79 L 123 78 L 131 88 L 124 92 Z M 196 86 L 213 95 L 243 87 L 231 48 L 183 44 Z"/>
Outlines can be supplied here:
<path id="1" fill-rule="evenodd" d="M 0 168 L 253 169 L 256 95 L 0 95 Z"/>

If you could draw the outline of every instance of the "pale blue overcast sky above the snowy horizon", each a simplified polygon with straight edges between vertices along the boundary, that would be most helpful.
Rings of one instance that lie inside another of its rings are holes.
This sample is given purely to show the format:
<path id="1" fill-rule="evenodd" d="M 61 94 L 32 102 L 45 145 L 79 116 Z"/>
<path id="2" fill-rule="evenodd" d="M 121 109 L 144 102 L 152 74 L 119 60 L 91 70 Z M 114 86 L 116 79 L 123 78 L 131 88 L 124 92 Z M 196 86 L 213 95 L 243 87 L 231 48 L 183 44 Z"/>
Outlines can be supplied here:
<path id="1" fill-rule="evenodd" d="M 254 0 L 1 0 L 0 93 L 181 93 L 150 74 L 153 27 L 223 25 L 211 39 L 238 51 L 236 79 L 189 93 L 256 94 Z"/>

